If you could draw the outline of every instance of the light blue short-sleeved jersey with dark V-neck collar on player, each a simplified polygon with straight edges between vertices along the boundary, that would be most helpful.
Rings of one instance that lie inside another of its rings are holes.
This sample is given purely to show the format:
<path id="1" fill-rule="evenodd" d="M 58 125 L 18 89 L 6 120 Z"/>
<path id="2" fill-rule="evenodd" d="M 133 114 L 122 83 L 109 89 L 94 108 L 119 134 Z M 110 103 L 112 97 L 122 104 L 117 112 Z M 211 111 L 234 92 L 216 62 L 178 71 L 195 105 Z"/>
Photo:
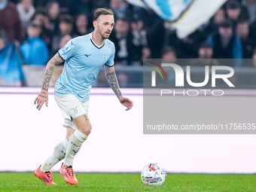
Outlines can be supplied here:
<path id="1" fill-rule="evenodd" d="M 58 51 L 59 56 L 65 60 L 65 65 L 56 81 L 54 94 L 74 94 L 81 102 L 88 102 L 90 88 L 101 67 L 104 64 L 114 66 L 114 52 L 114 44 L 108 39 L 98 47 L 93 42 L 92 33 L 72 38 Z"/>

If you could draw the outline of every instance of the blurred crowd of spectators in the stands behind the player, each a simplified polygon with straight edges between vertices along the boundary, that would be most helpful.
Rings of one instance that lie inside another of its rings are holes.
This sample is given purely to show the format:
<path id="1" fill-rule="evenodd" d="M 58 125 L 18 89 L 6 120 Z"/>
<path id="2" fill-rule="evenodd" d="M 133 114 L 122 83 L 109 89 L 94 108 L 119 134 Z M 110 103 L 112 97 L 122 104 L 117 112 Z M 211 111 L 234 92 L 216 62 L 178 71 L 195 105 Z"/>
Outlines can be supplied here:
<path id="1" fill-rule="evenodd" d="M 139 69 L 143 59 L 159 58 L 191 59 L 191 66 L 236 59 L 225 66 L 256 67 L 256 0 L 227 1 L 209 22 L 181 39 L 154 11 L 123 0 L 0 0 L 0 86 L 38 86 L 51 56 L 71 38 L 93 32 L 96 8 L 114 11 L 109 39 L 120 70 Z M 61 72 L 59 66 L 55 78 Z M 118 76 L 121 86 L 131 79 L 136 84 L 129 72 Z"/>

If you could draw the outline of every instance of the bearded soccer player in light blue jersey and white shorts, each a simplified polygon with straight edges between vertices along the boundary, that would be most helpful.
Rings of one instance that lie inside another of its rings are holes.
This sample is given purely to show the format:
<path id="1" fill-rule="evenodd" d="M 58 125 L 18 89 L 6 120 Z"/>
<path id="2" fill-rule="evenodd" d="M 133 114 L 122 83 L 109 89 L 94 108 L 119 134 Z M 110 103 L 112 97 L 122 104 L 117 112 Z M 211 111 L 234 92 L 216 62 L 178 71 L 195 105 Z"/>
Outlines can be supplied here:
<path id="1" fill-rule="evenodd" d="M 94 31 L 89 35 L 72 38 L 47 63 L 41 93 L 35 99 L 36 108 L 48 106 L 48 87 L 53 69 L 65 61 L 62 75 L 56 81 L 54 96 L 65 121 L 66 138 L 56 145 L 53 154 L 35 170 L 35 176 L 45 184 L 55 184 L 50 169 L 64 159 L 60 175 L 70 184 L 78 184 L 72 169 L 75 154 L 90 134 L 92 126 L 87 116 L 90 88 L 99 70 L 105 65 L 105 77 L 126 111 L 133 102 L 122 96 L 114 72 L 114 44 L 108 40 L 114 27 L 114 14 L 110 9 L 98 8 L 93 14 Z"/>

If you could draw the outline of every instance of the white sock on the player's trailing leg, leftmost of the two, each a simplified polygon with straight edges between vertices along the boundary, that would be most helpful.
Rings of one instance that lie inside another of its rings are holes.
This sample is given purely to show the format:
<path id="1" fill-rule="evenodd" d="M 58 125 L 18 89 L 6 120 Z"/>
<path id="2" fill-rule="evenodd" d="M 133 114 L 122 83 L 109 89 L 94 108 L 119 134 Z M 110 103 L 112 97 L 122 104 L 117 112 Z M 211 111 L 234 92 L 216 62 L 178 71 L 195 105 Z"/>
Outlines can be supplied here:
<path id="1" fill-rule="evenodd" d="M 48 159 L 41 165 L 41 172 L 50 172 L 50 169 L 56 165 L 60 160 L 64 159 L 66 156 L 66 149 L 68 148 L 69 142 L 65 138 L 60 142 L 53 150 L 53 154 L 48 157 Z"/>

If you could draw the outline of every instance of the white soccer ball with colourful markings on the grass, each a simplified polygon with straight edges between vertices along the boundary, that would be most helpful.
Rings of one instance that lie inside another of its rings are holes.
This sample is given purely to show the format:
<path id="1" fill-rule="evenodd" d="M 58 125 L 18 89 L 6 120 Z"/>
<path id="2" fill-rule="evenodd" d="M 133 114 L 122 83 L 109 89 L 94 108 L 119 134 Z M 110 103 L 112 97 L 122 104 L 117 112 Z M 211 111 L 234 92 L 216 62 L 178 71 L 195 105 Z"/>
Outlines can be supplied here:
<path id="1" fill-rule="evenodd" d="M 142 181 L 146 185 L 160 186 L 166 181 L 166 169 L 158 163 L 149 163 L 142 169 Z"/>

